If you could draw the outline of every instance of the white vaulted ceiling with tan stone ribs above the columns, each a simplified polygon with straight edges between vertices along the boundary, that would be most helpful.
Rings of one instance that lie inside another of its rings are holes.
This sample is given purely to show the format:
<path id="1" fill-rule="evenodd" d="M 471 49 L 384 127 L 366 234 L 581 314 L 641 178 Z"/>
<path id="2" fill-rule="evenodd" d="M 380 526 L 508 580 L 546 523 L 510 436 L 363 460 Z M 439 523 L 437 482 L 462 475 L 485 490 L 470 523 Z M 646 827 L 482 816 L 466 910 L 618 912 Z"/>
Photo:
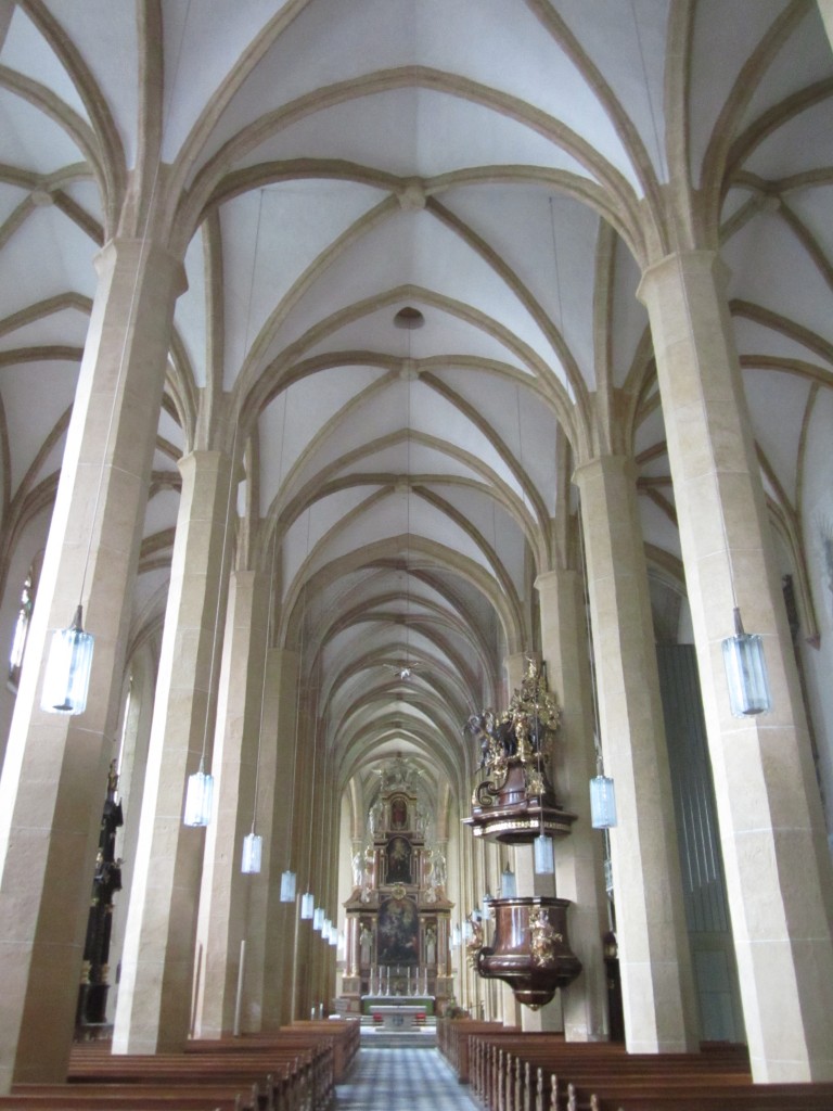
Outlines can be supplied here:
<path id="1" fill-rule="evenodd" d="M 164 610 L 177 459 L 219 439 L 227 396 L 239 510 L 274 526 L 249 526 L 251 558 L 342 782 L 394 751 L 461 774 L 460 723 L 534 645 L 532 584 L 568 558 L 593 451 L 636 458 L 652 565 L 682 589 L 636 298 L 680 244 L 731 268 L 794 558 L 833 386 L 815 3 L 23 0 L 3 33 L 4 574 L 42 543 L 93 259 L 137 174 L 188 290 L 132 641 Z"/>

